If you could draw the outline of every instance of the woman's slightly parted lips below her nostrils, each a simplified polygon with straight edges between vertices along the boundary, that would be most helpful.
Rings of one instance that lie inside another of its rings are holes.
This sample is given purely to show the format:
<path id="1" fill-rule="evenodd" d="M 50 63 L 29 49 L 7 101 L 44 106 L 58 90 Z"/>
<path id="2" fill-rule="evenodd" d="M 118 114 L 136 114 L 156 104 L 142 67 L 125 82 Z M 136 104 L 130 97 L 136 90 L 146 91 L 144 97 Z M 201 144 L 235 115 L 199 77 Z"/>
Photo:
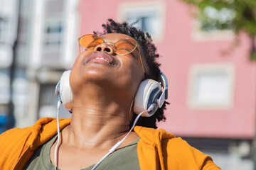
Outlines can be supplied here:
<path id="1" fill-rule="evenodd" d="M 107 55 L 105 52 L 96 52 L 87 57 L 87 62 L 102 62 L 114 65 L 113 61 L 113 58 L 110 57 L 110 55 Z"/>

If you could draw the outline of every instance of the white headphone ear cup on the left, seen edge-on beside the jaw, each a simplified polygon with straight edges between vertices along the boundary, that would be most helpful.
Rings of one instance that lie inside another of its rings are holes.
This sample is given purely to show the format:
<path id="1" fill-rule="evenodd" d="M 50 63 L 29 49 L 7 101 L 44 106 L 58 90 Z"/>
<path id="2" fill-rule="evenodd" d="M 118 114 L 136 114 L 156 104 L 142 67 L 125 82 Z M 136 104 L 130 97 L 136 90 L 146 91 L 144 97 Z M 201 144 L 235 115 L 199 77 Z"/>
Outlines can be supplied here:
<path id="1" fill-rule="evenodd" d="M 73 94 L 69 83 L 70 72 L 71 70 L 63 72 L 60 78 L 60 98 L 67 109 L 73 108 Z"/>

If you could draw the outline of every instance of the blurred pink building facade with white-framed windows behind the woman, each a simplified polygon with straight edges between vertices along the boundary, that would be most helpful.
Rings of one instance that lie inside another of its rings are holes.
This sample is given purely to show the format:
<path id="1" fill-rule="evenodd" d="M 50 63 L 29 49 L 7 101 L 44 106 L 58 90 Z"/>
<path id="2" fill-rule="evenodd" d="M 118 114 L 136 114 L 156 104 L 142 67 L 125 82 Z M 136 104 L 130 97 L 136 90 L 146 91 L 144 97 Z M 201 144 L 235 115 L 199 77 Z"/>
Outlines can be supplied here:
<path id="1" fill-rule="evenodd" d="M 256 67 L 245 34 L 233 47 L 230 30 L 205 33 L 193 8 L 178 0 L 80 1 L 78 11 L 78 36 L 102 30 L 107 18 L 137 17 L 149 26 L 169 80 L 171 104 L 159 128 L 183 137 L 254 137 Z"/>

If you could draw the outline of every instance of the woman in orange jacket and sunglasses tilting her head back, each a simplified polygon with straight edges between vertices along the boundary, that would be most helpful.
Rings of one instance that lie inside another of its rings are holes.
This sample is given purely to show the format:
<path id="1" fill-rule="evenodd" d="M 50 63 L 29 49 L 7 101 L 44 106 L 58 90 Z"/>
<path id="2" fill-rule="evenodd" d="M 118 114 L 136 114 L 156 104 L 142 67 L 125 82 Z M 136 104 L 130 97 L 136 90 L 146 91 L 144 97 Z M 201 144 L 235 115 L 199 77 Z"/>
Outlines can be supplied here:
<path id="1" fill-rule="evenodd" d="M 145 111 L 151 117 L 139 118 L 134 132 L 127 135 L 138 114 L 135 108 L 142 82 L 161 81 L 159 55 L 148 33 L 112 19 L 102 26 L 103 33 L 79 39 L 84 50 L 69 78 L 73 115 L 71 120 L 60 120 L 60 145 L 53 118 L 9 130 L 0 137 L 0 169 L 219 169 L 181 138 L 155 130 L 156 120 L 165 119 L 166 102 L 151 115 L 157 109 L 153 101 Z"/>

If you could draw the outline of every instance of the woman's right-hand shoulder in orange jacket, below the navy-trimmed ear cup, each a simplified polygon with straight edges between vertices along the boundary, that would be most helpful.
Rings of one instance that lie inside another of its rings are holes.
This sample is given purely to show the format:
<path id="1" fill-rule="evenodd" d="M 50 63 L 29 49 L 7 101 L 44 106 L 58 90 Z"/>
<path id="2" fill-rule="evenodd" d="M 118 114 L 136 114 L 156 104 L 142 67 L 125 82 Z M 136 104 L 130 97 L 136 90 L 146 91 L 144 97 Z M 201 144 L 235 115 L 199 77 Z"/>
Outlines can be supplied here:
<path id="1" fill-rule="evenodd" d="M 151 153 L 151 157 L 154 157 L 154 153 L 158 152 L 162 166 L 176 167 L 174 169 L 220 169 L 210 156 L 164 129 L 136 127 L 134 131 L 141 137 L 138 153 Z M 149 152 L 152 150 L 155 152 Z"/>

